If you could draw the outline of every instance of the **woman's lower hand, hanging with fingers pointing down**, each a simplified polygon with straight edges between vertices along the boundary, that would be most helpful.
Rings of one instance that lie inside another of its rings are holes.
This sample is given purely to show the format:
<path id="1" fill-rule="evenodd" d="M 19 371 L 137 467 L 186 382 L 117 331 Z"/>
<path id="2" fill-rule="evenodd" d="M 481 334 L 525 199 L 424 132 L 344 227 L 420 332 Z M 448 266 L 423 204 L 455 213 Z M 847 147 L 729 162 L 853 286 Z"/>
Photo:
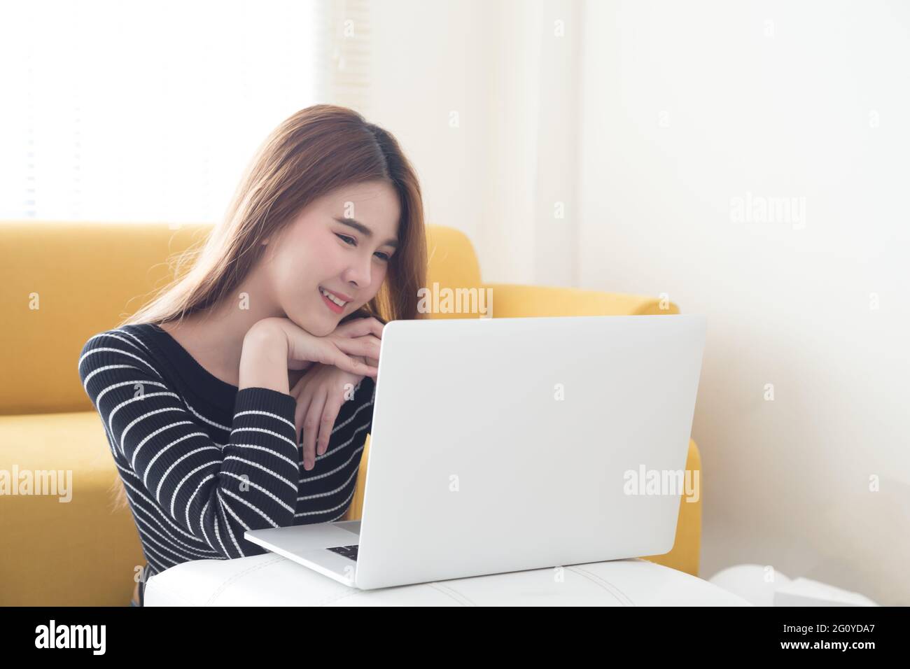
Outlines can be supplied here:
<path id="1" fill-rule="evenodd" d="M 362 359 L 360 359 L 362 360 Z M 354 398 L 354 388 L 364 375 L 317 364 L 298 380 L 290 394 L 297 400 L 294 425 L 303 428 L 303 468 L 316 466 L 316 455 L 329 447 L 341 405 Z"/>

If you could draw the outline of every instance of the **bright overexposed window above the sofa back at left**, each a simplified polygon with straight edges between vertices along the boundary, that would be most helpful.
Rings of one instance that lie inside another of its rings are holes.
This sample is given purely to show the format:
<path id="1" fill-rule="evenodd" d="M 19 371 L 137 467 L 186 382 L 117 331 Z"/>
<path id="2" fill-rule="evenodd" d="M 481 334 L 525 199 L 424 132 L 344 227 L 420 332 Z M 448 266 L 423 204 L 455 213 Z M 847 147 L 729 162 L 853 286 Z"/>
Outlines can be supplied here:
<path id="1" fill-rule="evenodd" d="M 0 218 L 221 218 L 268 132 L 329 101 L 328 6 L 4 3 Z"/>

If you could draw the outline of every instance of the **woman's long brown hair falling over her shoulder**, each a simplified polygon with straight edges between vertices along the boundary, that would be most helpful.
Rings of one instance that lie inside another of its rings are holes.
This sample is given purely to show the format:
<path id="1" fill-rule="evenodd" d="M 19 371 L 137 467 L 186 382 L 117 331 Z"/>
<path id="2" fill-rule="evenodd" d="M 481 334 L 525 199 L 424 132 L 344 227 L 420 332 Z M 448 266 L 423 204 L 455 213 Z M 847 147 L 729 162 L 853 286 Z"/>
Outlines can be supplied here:
<path id="1" fill-rule="evenodd" d="M 256 265 L 266 248 L 263 239 L 286 228 L 317 198 L 368 181 L 387 182 L 398 193 L 399 246 L 376 297 L 341 322 L 364 316 L 382 322 L 424 318 L 418 291 L 427 281 L 427 241 L 414 168 L 395 137 L 358 112 L 314 105 L 272 131 L 250 161 L 226 217 L 201 244 L 171 258 L 174 279 L 117 327 L 180 322 L 217 308 Z M 115 486 L 115 508 L 126 507 L 119 475 Z"/>

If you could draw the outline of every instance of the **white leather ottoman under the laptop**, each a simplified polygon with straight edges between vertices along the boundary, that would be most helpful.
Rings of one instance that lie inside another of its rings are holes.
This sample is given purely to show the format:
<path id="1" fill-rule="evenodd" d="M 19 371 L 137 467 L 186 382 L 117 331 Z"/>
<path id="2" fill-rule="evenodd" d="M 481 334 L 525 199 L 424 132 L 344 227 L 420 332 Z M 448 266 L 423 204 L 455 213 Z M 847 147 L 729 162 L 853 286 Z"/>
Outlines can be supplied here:
<path id="1" fill-rule="evenodd" d="M 713 583 L 642 560 L 349 588 L 285 557 L 195 560 L 152 576 L 146 606 L 751 606 Z"/>

